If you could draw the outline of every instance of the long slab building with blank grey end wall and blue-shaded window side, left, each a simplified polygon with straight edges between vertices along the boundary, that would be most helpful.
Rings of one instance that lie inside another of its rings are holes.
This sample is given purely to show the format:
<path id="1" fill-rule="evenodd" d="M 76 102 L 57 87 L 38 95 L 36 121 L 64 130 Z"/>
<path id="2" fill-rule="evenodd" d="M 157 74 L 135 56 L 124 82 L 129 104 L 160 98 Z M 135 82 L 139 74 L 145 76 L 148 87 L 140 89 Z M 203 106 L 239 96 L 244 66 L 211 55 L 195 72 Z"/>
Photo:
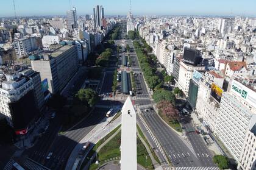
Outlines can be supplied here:
<path id="1" fill-rule="evenodd" d="M 32 69 L 40 73 L 41 80 L 48 80 L 49 91 L 54 94 L 60 92 L 76 73 L 78 56 L 74 43 L 52 45 L 50 48 L 53 50 L 29 58 Z"/>

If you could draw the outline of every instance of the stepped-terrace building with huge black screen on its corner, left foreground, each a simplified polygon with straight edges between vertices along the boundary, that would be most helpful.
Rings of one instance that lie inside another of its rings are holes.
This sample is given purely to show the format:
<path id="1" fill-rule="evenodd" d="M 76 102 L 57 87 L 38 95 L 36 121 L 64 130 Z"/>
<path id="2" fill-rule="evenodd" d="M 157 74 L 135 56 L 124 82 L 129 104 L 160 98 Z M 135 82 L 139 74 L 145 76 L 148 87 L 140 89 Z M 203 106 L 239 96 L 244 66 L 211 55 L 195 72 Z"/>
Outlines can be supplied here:
<path id="1" fill-rule="evenodd" d="M 3 71 L 3 74 L 0 113 L 17 135 L 23 135 L 43 108 L 40 74 L 23 66 L 13 66 Z"/>

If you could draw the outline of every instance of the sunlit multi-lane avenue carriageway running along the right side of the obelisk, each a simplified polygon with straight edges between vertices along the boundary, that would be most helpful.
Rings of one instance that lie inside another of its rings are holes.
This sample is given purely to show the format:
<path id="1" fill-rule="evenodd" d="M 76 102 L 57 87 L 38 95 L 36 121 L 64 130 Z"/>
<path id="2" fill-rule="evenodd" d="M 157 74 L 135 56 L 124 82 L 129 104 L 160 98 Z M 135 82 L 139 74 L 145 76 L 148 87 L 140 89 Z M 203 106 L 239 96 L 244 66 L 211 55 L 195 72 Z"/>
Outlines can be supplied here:
<path id="1" fill-rule="evenodd" d="M 130 48 L 133 49 L 132 42 L 126 40 Z M 141 116 L 156 136 L 165 154 L 171 160 L 176 169 L 218 169 L 212 161 L 212 154 L 208 150 L 201 136 L 196 133 L 187 133 L 187 140 L 172 130 L 157 115 L 149 98 L 148 90 L 143 79 L 143 74 L 138 65 L 138 58 L 135 53 L 130 54 L 132 59 L 133 72 L 138 73 L 135 76 L 137 86 L 136 104 L 141 109 Z M 193 129 L 191 122 L 184 122 L 183 126 L 187 129 Z"/>

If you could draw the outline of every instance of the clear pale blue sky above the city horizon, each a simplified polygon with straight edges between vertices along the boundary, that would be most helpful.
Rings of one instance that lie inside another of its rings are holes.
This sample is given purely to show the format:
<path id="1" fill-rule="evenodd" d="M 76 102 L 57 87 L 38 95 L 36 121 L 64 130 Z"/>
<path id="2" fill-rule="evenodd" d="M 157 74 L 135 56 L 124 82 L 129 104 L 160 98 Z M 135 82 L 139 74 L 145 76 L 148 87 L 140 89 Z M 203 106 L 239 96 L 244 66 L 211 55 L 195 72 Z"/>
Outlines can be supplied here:
<path id="1" fill-rule="evenodd" d="M 103 5 L 105 15 L 126 15 L 129 0 L 70 0 L 78 15 Z M 69 0 L 15 0 L 17 16 L 65 15 Z M 133 15 L 256 16 L 256 0 L 132 0 Z M 0 18 L 14 16 L 13 1 L 0 0 Z"/>

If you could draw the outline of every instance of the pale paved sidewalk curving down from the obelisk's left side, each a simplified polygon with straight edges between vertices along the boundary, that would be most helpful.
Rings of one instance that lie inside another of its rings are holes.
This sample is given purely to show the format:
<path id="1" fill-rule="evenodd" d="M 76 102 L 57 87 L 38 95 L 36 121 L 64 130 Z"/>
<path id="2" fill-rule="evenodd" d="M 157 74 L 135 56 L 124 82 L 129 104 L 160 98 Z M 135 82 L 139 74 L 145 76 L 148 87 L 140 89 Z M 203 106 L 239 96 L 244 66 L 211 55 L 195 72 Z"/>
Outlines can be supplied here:
<path id="1" fill-rule="evenodd" d="M 119 124 L 121 124 L 121 116 L 115 119 L 115 121 L 109 123 L 115 115 L 109 118 L 102 119 L 102 121 L 97 126 L 95 126 L 90 133 L 84 136 L 84 138 L 82 138 L 82 140 L 80 140 L 79 143 L 77 143 L 76 147 L 74 147 L 73 151 L 69 155 L 68 161 L 66 163 L 66 170 L 72 169 L 74 161 L 76 160 L 77 155 L 79 154 L 79 151 L 82 149 L 84 144 L 87 143 L 87 141 L 96 144 L 99 140 L 104 138 L 105 135 L 110 133 L 113 129 L 118 127 Z"/>

